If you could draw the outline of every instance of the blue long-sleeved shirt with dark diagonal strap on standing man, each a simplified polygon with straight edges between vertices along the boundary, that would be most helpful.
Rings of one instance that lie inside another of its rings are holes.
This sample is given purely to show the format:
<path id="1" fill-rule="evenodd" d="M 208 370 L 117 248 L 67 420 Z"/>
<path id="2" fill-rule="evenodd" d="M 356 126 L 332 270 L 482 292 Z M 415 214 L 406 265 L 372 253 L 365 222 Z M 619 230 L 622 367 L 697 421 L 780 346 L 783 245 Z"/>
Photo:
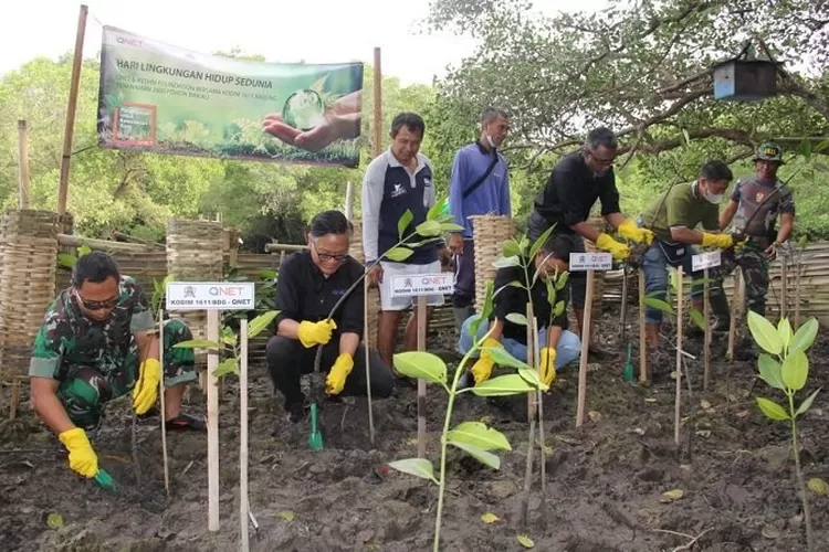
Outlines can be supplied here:
<path id="1" fill-rule="evenodd" d="M 497 162 L 486 179 L 465 199 L 463 194 L 484 176 L 486 169 L 497 156 Z M 449 209 L 454 222 L 464 227 L 463 236 L 472 237 L 470 216 L 480 214 L 500 214 L 512 216 L 510 202 L 510 171 L 506 158 L 497 152 L 487 151 L 481 142 L 470 144 L 458 150 L 452 163 L 452 176 L 449 183 Z"/>

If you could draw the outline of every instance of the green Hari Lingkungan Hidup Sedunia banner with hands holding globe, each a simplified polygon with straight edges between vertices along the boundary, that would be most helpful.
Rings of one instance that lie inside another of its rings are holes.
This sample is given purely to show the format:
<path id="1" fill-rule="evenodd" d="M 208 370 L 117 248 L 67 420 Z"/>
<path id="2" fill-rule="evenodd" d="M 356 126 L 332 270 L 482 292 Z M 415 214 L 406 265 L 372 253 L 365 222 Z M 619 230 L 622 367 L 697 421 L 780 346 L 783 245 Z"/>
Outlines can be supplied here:
<path id="1" fill-rule="evenodd" d="M 249 62 L 104 28 L 105 148 L 357 167 L 361 99 L 359 62 Z"/>

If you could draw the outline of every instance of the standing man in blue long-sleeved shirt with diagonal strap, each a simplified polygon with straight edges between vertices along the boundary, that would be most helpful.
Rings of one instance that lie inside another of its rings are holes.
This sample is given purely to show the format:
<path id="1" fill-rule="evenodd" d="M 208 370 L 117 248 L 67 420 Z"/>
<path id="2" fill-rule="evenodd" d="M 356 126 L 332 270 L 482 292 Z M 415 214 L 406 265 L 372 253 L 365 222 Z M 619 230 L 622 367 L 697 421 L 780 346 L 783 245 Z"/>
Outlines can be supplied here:
<path id="1" fill-rule="evenodd" d="M 510 131 L 506 113 L 489 107 L 481 116 L 481 138 L 458 150 L 449 183 L 449 208 L 463 232 L 449 235 L 454 255 L 455 284 L 452 294 L 458 331 L 475 314 L 475 259 L 470 216 L 500 214 L 512 216 L 510 173 L 506 158 L 497 148 Z"/>

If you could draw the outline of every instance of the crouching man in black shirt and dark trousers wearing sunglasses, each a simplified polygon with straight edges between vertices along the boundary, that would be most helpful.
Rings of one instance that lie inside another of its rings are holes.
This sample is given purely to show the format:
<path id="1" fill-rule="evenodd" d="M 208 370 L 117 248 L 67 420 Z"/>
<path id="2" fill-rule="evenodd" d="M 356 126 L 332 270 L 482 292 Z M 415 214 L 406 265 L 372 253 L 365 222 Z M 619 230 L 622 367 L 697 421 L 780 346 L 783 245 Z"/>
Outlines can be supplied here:
<path id="1" fill-rule="evenodd" d="M 267 368 L 274 388 L 285 396 L 291 422 L 305 416 L 305 395 L 300 389 L 303 373 L 314 370 L 316 348 L 323 344 L 321 370 L 328 372 L 328 395 L 366 394 L 363 335 L 363 285 L 358 284 L 328 315 L 350 286 L 363 276 L 363 266 L 348 256 L 351 229 L 339 211 L 314 216 L 308 250 L 294 253 L 280 268 L 276 284 L 276 335 L 267 342 Z M 354 370 L 356 369 L 356 370 Z M 387 397 L 393 379 L 374 351 L 369 370 L 371 394 Z M 351 373 L 354 372 L 354 373 Z"/>

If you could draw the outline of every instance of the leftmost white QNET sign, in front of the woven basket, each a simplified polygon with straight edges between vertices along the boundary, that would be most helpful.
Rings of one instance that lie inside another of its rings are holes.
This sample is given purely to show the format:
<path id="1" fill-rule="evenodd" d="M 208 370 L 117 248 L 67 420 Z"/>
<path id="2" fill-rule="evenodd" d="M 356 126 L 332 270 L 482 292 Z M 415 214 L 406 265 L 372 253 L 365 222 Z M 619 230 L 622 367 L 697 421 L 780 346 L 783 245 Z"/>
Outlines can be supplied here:
<path id="1" fill-rule="evenodd" d="M 250 310 L 255 295 L 253 282 L 170 282 L 167 310 Z"/>

